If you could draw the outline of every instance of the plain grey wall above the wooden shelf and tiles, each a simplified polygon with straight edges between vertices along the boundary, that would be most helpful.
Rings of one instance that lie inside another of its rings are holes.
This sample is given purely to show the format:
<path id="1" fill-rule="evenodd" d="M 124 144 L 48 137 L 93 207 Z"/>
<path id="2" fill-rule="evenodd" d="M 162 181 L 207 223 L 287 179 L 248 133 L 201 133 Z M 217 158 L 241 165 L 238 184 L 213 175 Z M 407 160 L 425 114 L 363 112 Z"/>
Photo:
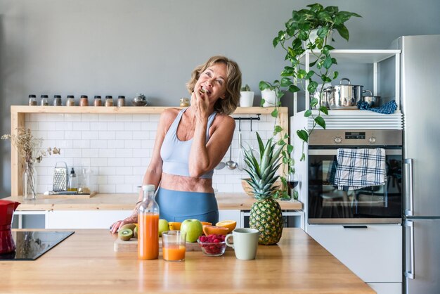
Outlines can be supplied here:
<path id="1" fill-rule="evenodd" d="M 28 94 L 134 96 L 174 106 L 188 96 L 195 65 L 224 54 L 257 91 L 282 70 L 271 41 L 300 0 L 0 0 L 0 132 L 10 106 Z M 324 6 L 359 13 L 338 49 L 387 49 L 393 39 L 440 33 L 438 0 L 333 0 Z M 369 79 L 354 84 L 371 83 Z M 367 85 L 368 86 L 368 85 Z M 291 105 L 291 96 L 284 99 Z M 256 102 L 257 103 L 257 102 Z M 0 143 L 0 198 L 11 191 L 10 146 Z"/>

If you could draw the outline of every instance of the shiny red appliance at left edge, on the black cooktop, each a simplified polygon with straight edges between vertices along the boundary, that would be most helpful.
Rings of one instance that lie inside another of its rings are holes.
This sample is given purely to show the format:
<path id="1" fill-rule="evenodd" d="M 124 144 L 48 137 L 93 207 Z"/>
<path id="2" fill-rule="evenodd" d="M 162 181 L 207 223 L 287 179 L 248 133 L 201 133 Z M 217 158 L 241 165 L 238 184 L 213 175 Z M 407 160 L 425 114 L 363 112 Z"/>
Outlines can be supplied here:
<path id="1" fill-rule="evenodd" d="M 12 216 L 20 203 L 0 200 L 0 254 L 15 250 L 15 243 L 11 233 Z"/>

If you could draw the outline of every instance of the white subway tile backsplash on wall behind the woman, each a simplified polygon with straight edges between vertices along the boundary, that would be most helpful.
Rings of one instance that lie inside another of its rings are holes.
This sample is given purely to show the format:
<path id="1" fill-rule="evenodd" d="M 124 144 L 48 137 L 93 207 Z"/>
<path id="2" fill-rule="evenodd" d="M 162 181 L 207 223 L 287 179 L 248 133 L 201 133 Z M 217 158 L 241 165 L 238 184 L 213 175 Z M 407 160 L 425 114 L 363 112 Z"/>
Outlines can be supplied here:
<path id="1" fill-rule="evenodd" d="M 233 115 L 255 117 L 255 115 Z M 100 193 L 136 193 L 143 174 L 150 164 L 160 115 L 107 115 L 107 114 L 26 114 L 26 126 L 32 134 L 44 139 L 42 148 L 61 148 L 61 155 L 47 156 L 37 166 L 38 191 L 51 190 L 53 167 L 66 162 L 75 167 L 77 174 L 86 168 L 91 171 L 91 182 Z M 261 115 L 259 121 L 242 120 L 242 146 L 258 148 L 257 136 L 272 136 L 274 119 Z M 233 160 L 238 160 L 239 122 L 236 121 L 232 142 Z M 229 160 L 229 152 L 223 161 Z M 241 180 L 248 177 L 238 169 L 214 170 L 213 186 L 217 193 L 242 193 Z"/>

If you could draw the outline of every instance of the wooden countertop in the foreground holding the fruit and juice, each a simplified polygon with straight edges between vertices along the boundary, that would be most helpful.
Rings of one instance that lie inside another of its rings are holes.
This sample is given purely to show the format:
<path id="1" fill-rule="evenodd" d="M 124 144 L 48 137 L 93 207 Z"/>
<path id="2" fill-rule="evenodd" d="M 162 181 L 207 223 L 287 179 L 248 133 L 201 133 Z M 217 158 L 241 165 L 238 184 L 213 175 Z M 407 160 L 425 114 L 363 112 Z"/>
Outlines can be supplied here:
<path id="1" fill-rule="evenodd" d="M 78 230 L 34 261 L 0 260 L 2 293 L 375 293 L 301 229 L 278 245 L 259 245 L 256 260 L 233 251 L 184 262 L 115 253 L 108 230 Z"/>

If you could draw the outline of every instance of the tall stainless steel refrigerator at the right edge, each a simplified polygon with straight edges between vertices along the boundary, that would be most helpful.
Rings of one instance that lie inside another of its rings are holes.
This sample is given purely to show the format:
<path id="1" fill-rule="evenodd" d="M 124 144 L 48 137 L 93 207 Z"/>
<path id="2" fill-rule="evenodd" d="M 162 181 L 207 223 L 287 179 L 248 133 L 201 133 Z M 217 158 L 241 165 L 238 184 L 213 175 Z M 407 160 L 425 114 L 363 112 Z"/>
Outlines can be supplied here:
<path id="1" fill-rule="evenodd" d="M 440 293 L 440 35 L 401 49 L 404 293 Z"/>

